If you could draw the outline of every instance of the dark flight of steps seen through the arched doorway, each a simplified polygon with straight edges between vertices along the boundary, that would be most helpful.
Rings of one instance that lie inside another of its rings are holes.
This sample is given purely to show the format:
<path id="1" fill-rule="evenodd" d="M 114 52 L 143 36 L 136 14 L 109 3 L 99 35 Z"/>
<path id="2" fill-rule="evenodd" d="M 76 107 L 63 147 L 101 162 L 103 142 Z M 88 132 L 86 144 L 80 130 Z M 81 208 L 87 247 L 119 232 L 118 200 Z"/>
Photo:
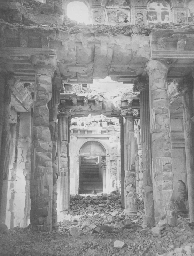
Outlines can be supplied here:
<path id="1" fill-rule="evenodd" d="M 79 176 L 79 194 L 103 192 L 102 179 L 99 178 L 98 157 L 82 156 Z"/>

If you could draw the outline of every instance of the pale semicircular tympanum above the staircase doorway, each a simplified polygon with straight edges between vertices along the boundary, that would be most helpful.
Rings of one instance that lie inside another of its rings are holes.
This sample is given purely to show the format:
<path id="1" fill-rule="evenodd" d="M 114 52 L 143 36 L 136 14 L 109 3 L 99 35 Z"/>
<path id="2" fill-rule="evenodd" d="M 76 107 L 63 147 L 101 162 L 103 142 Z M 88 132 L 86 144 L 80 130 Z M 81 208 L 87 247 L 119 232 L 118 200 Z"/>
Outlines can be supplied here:
<path id="1" fill-rule="evenodd" d="M 106 156 L 106 149 L 98 141 L 87 141 L 79 150 L 80 156 Z"/>

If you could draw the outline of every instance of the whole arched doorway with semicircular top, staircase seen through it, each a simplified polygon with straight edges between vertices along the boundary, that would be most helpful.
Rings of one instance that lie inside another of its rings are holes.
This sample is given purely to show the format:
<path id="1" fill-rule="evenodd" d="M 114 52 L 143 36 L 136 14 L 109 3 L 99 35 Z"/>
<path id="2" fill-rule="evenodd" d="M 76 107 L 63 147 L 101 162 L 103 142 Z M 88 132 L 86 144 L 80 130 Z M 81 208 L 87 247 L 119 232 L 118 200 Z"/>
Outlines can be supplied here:
<path id="1" fill-rule="evenodd" d="M 102 193 L 106 180 L 105 148 L 98 141 L 87 141 L 80 148 L 79 155 L 79 194 Z"/>

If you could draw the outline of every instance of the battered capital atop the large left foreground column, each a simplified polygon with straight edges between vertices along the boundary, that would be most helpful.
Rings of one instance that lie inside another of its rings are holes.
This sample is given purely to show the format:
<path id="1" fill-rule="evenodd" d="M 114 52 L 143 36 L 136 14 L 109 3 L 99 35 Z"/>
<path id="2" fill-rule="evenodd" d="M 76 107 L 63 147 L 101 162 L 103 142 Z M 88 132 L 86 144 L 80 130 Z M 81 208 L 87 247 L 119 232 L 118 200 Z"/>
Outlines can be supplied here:
<path id="1" fill-rule="evenodd" d="M 56 69 L 56 57 L 48 54 L 33 55 L 30 57 L 34 69 L 37 73 L 42 75 L 50 75 L 53 77 L 53 73 Z"/>

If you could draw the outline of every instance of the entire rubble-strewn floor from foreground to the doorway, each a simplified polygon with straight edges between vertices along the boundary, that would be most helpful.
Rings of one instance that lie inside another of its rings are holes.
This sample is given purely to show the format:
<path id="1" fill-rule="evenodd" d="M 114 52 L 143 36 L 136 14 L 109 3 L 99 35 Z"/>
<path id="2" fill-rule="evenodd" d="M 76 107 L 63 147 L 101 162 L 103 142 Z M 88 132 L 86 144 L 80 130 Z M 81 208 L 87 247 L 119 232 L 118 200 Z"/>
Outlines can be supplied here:
<path id="1" fill-rule="evenodd" d="M 140 200 L 137 216 L 129 218 L 116 193 L 71 196 L 69 212 L 59 223 L 59 229 L 51 233 L 1 228 L 0 255 L 194 255 L 194 223 L 179 216 L 176 227 L 143 229 L 142 218 L 143 202 Z"/>

